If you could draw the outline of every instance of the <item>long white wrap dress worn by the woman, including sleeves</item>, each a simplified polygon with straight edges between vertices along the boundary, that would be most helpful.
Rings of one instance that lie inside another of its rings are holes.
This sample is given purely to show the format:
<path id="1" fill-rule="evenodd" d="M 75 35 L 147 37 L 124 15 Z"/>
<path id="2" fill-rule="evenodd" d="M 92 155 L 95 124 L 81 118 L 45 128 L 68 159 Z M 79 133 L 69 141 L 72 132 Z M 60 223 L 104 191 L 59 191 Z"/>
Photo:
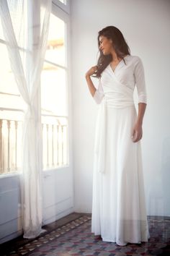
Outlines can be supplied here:
<path id="1" fill-rule="evenodd" d="M 149 237 L 140 141 L 133 142 L 137 113 L 133 101 L 146 103 L 143 63 L 125 56 L 115 71 L 102 72 L 94 101 L 96 124 L 91 232 L 119 245 L 147 242 Z"/>

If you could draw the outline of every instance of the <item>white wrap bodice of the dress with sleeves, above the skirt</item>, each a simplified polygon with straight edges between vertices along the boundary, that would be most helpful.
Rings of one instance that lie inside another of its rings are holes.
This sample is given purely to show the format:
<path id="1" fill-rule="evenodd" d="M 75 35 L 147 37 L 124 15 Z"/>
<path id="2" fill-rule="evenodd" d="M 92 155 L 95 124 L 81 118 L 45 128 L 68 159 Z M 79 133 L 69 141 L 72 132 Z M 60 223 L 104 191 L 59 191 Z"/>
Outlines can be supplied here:
<path id="1" fill-rule="evenodd" d="M 99 104 L 102 98 L 114 103 L 115 106 L 131 106 L 135 85 L 138 91 L 138 102 L 146 103 L 146 83 L 143 63 L 138 56 L 125 56 L 112 70 L 110 64 L 99 78 L 99 86 L 94 94 L 94 100 Z"/>

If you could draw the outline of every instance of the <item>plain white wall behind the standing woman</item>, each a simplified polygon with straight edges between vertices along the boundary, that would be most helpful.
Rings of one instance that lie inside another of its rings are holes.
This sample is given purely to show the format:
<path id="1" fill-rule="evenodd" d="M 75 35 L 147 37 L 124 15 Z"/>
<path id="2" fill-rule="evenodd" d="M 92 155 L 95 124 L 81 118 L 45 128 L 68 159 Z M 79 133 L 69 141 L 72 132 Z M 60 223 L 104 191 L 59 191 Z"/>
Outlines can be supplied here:
<path id="1" fill-rule="evenodd" d="M 97 33 L 118 27 L 140 56 L 148 106 L 143 124 L 143 168 L 148 215 L 170 216 L 170 1 L 71 0 L 73 163 L 75 210 L 91 212 L 97 105 L 84 74 L 97 63 Z"/>

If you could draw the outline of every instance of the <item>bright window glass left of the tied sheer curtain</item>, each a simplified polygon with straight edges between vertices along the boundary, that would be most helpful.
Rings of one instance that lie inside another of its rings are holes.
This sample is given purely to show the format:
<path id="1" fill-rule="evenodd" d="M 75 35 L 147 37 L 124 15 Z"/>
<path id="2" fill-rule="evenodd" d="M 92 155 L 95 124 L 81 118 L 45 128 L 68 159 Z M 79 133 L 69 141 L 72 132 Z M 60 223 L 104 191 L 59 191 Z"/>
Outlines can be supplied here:
<path id="1" fill-rule="evenodd" d="M 10 67 L 1 22 L 0 53 L 0 174 L 4 174 L 18 171 L 21 166 L 24 101 Z"/>

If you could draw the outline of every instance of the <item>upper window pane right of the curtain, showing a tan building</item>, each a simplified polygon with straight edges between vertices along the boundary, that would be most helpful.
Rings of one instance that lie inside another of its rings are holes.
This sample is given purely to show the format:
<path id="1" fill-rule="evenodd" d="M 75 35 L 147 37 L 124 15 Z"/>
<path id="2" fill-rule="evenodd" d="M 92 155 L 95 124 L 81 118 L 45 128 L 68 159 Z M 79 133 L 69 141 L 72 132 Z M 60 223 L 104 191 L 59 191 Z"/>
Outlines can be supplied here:
<path id="1" fill-rule="evenodd" d="M 53 14 L 50 14 L 50 29 L 48 48 L 45 59 L 61 66 L 66 66 L 66 24 Z"/>

